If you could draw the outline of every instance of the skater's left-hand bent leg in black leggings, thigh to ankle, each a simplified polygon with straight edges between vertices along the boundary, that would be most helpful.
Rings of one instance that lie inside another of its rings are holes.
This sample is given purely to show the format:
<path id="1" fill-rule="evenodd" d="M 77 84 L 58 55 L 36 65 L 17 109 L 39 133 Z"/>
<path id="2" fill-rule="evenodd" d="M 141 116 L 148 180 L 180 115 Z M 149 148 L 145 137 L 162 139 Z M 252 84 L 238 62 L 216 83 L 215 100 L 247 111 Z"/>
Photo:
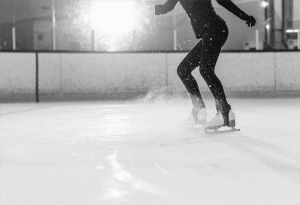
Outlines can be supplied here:
<path id="1" fill-rule="evenodd" d="M 197 81 L 192 76 L 192 71 L 200 64 L 201 47 L 202 40 L 200 40 L 200 42 L 185 56 L 177 69 L 177 74 L 184 83 L 185 88 L 192 99 L 192 103 L 194 105 L 193 112 L 197 112 L 201 108 L 205 108 Z"/>

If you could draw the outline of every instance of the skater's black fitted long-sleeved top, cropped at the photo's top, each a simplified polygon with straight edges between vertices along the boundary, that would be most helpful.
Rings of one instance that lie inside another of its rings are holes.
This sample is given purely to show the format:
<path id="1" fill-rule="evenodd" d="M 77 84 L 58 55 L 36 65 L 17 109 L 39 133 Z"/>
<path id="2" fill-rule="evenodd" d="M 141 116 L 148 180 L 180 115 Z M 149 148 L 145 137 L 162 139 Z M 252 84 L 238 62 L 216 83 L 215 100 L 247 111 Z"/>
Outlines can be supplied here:
<path id="1" fill-rule="evenodd" d="M 167 0 L 163 4 L 164 9 L 162 14 L 172 11 L 178 1 L 180 1 L 180 4 L 188 15 L 197 39 L 201 38 L 206 28 L 219 22 L 225 22 L 224 19 L 216 14 L 211 0 Z M 248 17 L 231 0 L 216 1 L 240 19 L 246 20 Z"/>

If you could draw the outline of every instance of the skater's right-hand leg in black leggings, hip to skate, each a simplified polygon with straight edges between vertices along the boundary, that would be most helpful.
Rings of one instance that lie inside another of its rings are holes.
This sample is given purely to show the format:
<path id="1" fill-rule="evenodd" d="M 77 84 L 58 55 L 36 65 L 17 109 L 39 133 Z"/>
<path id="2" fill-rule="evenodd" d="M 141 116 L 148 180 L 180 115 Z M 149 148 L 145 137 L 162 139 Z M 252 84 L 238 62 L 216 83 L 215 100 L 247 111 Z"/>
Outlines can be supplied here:
<path id="1" fill-rule="evenodd" d="M 203 43 L 200 59 L 200 73 L 205 79 L 215 99 L 217 111 L 228 115 L 231 106 L 228 104 L 221 81 L 215 74 L 215 66 L 221 51 L 228 37 L 228 28 L 225 23 L 210 27 L 203 34 Z M 225 125 L 228 125 L 228 118 L 224 118 Z"/>

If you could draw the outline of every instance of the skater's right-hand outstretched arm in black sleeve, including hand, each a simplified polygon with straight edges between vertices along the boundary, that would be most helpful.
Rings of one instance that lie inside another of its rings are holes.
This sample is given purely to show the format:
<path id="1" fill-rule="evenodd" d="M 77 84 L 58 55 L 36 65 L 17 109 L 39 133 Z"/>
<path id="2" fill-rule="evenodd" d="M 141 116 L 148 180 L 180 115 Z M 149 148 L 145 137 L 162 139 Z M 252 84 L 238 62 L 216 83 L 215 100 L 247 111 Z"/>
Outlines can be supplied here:
<path id="1" fill-rule="evenodd" d="M 255 26 L 255 19 L 253 16 L 249 16 L 244 11 L 242 11 L 239 7 L 237 7 L 231 0 L 216 0 L 218 4 L 229 10 L 235 16 L 247 22 L 248 26 Z"/>

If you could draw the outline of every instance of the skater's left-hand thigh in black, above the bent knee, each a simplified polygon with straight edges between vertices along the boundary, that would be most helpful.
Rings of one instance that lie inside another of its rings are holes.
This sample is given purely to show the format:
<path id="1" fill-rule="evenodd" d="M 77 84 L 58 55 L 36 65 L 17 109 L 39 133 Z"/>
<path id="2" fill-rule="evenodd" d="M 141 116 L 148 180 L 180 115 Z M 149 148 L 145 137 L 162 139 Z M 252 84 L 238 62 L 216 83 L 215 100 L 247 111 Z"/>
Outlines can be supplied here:
<path id="1" fill-rule="evenodd" d="M 179 68 L 189 70 L 190 72 L 200 65 L 202 40 L 185 56 L 179 65 Z"/>

